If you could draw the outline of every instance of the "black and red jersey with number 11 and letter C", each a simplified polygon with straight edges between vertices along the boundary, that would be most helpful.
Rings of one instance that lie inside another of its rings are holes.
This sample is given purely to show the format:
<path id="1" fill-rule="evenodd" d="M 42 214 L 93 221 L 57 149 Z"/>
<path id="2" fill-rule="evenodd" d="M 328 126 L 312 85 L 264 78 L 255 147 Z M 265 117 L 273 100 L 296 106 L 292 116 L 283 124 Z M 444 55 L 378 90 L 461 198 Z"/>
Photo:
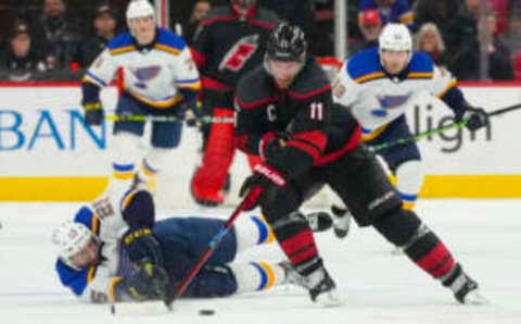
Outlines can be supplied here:
<path id="1" fill-rule="evenodd" d="M 330 82 L 313 58 L 284 90 L 264 66 L 246 73 L 234 104 L 236 138 L 242 151 L 260 155 L 267 139 L 285 134 L 285 147 L 265 162 L 289 178 L 338 160 L 360 140 L 358 123 L 347 109 L 332 102 Z"/>

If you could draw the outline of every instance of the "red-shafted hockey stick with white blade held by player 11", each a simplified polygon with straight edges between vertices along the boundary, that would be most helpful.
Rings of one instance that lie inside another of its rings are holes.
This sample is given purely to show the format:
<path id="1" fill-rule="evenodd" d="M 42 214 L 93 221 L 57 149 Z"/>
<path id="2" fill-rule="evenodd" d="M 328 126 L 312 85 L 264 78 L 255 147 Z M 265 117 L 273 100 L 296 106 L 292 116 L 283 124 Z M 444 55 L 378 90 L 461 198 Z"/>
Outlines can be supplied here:
<path id="1" fill-rule="evenodd" d="M 252 191 L 250 191 L 250 194 L 247 194 L 247 196 L 242 200 L 239 207 L 233 211 L 233 213 L 228 219 L 228 221 L 226 221 L 223 228 L 208 242 L 208 248 L 206 252 L 204 252 L 199 258 L 199 261 L 195 263 L 195 265 L 192 269 L 190 269 L 190 271 L 183 277 L 179 287 L 174 294 L 170 294 L 165 298 L 165 300 L 161 302 L 151 301 L 151 302 L 141 302 L 141 303 L 136 303 L 136 302 L 114 303 L 111 306 L 112 314 L 116 314 L 116 313 L 117 314 L 122 313 L 124 315 L 154 314 L 154 313 L 164 312 L 165 308 L 167 311 L 171 311 L 173 310 L 171 304 L 174 303 L 174 301 L 179 297 L 181 297 L 181 295 L 188 288 L 188 285 L 190 285 L 190 283 L 199 273 L 199 271 L 204 265 L 206 260 L 208 260 L 209 257 L 212 257 L 212 254 L 220 245 L 220 241 L 226 237 L 226 235 L 230 230 L 237 217 L 239 217 L 242 211 L 251 208 L 260 194 L 263 194 L 263 189 L 260 187 L 255 187 Z"/>

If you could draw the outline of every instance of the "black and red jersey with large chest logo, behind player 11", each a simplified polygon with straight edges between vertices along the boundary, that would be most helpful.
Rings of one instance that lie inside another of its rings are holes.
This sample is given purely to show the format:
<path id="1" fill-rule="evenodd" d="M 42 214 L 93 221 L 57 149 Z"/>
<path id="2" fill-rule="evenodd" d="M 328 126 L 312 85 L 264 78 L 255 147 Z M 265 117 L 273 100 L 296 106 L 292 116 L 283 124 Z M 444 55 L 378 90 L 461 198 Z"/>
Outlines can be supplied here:
<path id="1" fill-rule="evenodd" d="M 199 26 L 191 48 L 203 88 L 233 90 L 244 72 L 262 64 L 277 24 L 274 13 L 256 5 L 243 18 L 231 5 L 216 7 Z"/>

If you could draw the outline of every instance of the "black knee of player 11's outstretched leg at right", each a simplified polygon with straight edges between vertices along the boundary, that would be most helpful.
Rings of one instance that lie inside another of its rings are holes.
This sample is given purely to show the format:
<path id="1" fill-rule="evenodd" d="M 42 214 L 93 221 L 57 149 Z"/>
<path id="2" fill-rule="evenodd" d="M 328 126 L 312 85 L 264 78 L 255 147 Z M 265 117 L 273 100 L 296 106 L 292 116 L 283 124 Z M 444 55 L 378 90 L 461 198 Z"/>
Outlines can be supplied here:
<path id="1" fill-rule="evenodd" d="M 407 245 L 420 225 L 421 221 L 414 211 L 402 208 L 381 215 L 373 223 L 380 234 L 398 247 Z"/>

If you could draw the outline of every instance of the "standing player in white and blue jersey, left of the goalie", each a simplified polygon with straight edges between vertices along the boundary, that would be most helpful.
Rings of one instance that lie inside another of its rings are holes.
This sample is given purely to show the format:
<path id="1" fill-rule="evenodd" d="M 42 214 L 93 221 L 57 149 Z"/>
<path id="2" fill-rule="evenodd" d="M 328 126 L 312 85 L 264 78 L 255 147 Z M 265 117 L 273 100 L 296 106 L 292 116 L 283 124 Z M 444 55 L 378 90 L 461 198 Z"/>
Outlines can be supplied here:
<path id="1" fill-rule="evenodd" d="M 179 145 L 181 122 L 153 122 L 151 149 L 141 165 L 139 140 L 144 122 L 128 116 L 179 116 L 182 104 L 192 105 L 201 88 L 199 72 L 181 37 L 156 26 L 154 8 L 147 0 L 135 0 L 127 8 L 130 32 L 116 36 L 92 63 L 82 82 L 86 122 L 101 125 L 104 111 L 100 90 L 123 70 L 123 95 L 118 99 L 114 123 L 112 176 L 102 197 L 120 197 L 136 174 L 154 187 L 157 172 L 164 167 L 171 149 Z"/>

